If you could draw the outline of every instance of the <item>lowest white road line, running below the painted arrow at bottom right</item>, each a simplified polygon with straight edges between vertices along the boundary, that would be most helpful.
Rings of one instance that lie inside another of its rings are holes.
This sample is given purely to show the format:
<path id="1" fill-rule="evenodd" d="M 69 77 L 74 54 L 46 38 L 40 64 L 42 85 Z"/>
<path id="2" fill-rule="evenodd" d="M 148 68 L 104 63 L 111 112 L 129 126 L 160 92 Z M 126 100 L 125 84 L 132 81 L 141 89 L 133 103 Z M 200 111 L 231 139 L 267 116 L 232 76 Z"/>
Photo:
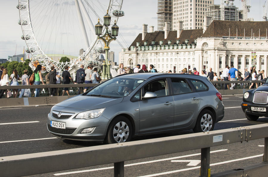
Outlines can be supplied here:
<path id="1" fill-rule="evenodd" d="M 220 164 L 225 164 L 225 163 L 230 163 L 230 162 L 236 162 L 236 161 L 240 161 L 240 160 L 251 159 L 251 158 L 261 157 L 261 156 L 263 156 L 263 154 L 259 154 L 259 155 L 255 155 L 255 156 L 250 156 L 250 157 L 244 157 L 244 158 L 240 158 L 240 159 L 228 160 L 228 161 L 224 161 L 224 162 L 213 163 L 213 164 L 210 164 L 210 166 L 220 165 Z M 180 169 L 180 170 L 174 170 L 174 171 L 167 171 L 167 172 L 163 172 L 163 173 L 155 173 L 155 174 L 152 174 L 152 175 L 145 175 L 145 176 L 139 176 L 139 177 L 152 177 L 152 176 L 167 175 L 167 174 L 171 174 L 171 173 L 177 173 L 177 172 L 181 172 L 181 171 L 194 170 L 194 169 L 199 169 L 199 168 L 200 168 L 200 166 L 198 166 L 198 167 L 191 167 L 191 168 L 185 168 L 185 169 Z"/>

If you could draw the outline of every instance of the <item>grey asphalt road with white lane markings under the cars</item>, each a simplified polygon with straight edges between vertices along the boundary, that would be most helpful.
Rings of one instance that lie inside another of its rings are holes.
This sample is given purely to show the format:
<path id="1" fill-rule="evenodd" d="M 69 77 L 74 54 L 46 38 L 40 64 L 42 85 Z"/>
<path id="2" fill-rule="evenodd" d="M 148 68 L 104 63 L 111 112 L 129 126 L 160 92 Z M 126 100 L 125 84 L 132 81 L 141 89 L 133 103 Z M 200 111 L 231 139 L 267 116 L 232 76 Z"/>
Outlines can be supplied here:
<path id="1" fill-rule="evenodd" d="M 222 121 L 215 124 L 214 130 L 268 122 L 268 118 L 248 121 L 240 107 L 241 100 L 242 96 L 223 97 L 225 117 Z M 38 106 L 0 109 L 0 157 L 102 145 L 102 143 L 97 142 L 54 138 L 46 128 L 47 114 L 51 108 L 52 106 Z M 191 136 L 191 133 L 193 133 L 192 130 L 185 130 L 160 135 L 137 136 L 133 138 L 133 141 L 183 134 Z M 259 139 L 247 143 L 233 143 L 212 147 L 210 159 L 211 174 L 261 162 L 262 154 L 264 153 L 263 145 L 264 139 Z M 200 149 L 127 161 L 125 162 L 127 166 L 125 166 L 124 173 L 125 176 L 199 176 L 200 163 L 194 161 L 196 162 L 195 164 L 189 164 L 188 160 L 200 160 Z M 81 170 L 86 171 L 81 172 Z M 72 173 L 69 174 L 69 172 Z M 113 164 L 35 176 L 56 175 L 72 177 L 113 176 Z"/>

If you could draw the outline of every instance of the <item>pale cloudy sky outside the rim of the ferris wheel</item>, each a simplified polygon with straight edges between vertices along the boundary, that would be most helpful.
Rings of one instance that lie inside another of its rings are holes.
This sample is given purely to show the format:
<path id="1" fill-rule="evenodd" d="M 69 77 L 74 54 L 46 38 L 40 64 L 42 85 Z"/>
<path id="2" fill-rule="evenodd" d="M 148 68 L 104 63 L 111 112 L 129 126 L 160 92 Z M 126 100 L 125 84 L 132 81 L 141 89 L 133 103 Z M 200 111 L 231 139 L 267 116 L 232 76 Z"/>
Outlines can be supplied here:
<path id="1" fill-rule="evenodd" d="M 266 0 L 251 0 L 251 9 L 248 13 L 249 18 L 254 18 L 254 21 L 262 21 L 262 5 Z M 21 26 L 18 25 L 19 12 L 16 6 L 18 1 L 0 0 L 2 8 L 1 15 L 1 28 L 0 28 L 0 59 L 7 59 L 7 56 L 21 54 L 23 48 L 27 48 L 24 40 L 21 39 L 22 31 Z M 214 0 L 214 4 L 220 4 L 220 0 Z M 241 1 L 235 0 L 234 5 L 241 9 Z M 142 24 L 154 26 L 157 30 L 157 0 L 124 0 L 122 10 L 125 16 L 119 17 L 117 25 L 119 26 L 119 33 L 123 36 L 124 40 L 118 37 L 118 40 L 124 47 L 129 47 L 136 36 L 142 31 Z M 104 14 L 103 14 L 104 15 Z M 97 21 L 92 20 L 93 23 Z M 42 33 L 42 31 L 40 32 Z M 40 42 L 44 39 L 40 39 Z M 38 40 L 38 39 L 37 39 Z M 16 49 L 17 45 L 17 49 Z M 67 48 L 63 48 L 64 53 L 67 53 Z M 118 42 L 112 41 L 110 43 L 110 50 L 115 51 L 115 61 L 118 61 L 118 53 L 121 47 Z M 79 51 L 77 51 L 78 55 Z M 75 54 L 74 54 L 75 55 Z"/>

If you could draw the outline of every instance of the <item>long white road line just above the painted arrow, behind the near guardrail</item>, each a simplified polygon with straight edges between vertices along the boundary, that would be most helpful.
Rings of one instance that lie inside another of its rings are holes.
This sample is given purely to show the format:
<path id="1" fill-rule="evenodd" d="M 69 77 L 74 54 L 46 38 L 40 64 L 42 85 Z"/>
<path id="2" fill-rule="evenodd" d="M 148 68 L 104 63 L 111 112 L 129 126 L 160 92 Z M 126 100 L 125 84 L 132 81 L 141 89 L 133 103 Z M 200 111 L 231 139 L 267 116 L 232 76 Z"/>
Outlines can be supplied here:
<path id="1" fill-rule="evenodd" d="M 227 151 L 228 149 L 220 149 L 216 151 L 211 151 L 210 153 L 215 153 L 215 152 L 222 152 L 222 151 Z M 124 165 L 124 167 L 129 167 L 133 165 L 142 165 L 142 164 L 147 164 L 147 163 L 153 163 L 153 162 L 161 162 L 161 161 L 166 161 L 166 160 L 172 160 L 172 159 L 180 159 L 184 157 L 191 157 L 191 156 L 197 156 L 201 155 L 201 153 L 197 154 L 189 154 L 189 155 L 184 155 L 184 156 L 178 156 L 178 157 L 170 157 L 166 159 L 158 159 L 158 160 L 151 160 L 147 162 L 138 162 L 138 163 L 133 163 L 133 164 L 127 164 Z M 95 168 L 95 169 L 90 169 L 90 170 L 80 170 L 80 171 L 71 171 L 71 172 L 65 172 L 65 173 L 55 173 L 55 176 L 60 176 L 60 175 L 68 175 L 68 174 L 75 174 L 75 173 L 85 173 L 85 172 L 91 172 L 91 171 L 98 171 L 98 170 L 107 170 L 107 169 L 112 169 L 113 167 L 103 167 L 103 168 Z"/>

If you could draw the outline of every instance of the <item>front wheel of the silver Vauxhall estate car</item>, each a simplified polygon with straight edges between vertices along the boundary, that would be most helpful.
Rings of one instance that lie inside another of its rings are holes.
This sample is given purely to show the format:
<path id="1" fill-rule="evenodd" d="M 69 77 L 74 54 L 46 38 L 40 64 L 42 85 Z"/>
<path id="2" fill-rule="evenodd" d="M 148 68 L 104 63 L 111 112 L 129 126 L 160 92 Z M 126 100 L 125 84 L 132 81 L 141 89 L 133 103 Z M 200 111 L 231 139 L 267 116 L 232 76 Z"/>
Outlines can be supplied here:
<path id="1" fill-rule="evenodd" d="M 131 122 L 124 116 L 114 118 L 107 131 L 105 143 L 123 143 L 130 141 L 133 134 Z"/>

